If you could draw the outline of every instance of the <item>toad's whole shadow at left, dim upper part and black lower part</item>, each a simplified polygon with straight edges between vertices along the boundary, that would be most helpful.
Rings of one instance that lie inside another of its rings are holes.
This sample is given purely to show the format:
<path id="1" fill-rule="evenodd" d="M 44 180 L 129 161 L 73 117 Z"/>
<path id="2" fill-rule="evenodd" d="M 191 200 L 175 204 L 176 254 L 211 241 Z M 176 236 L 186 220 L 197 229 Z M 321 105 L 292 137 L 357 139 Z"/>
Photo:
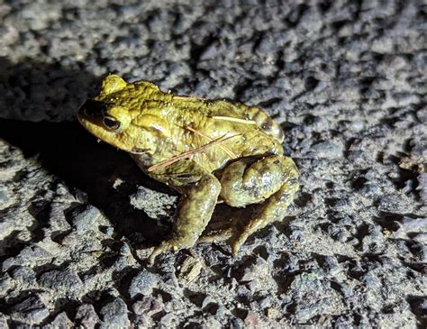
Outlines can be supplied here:
<path id="1" fill-rule="evenodd" d="M 102 79 L 85 70 L 63 69 L 31 60 L 13 64 L 0 58 L 0 64 L 0 109 L 1 116 L 6 117 L 37 120 L 49 114 L 52 120 L 59 120 L 64 117 L 60 111 L 77 114 L 76 104 L 81 102 L 81 96 L 95 95 Z M 61 78 L 67 83 L 59 83 L 58 90 L 53 82 L 50 89 L 36 88 L 37 93 L 33 92 L 38 81 Z M 61 96 L 64 86 L 71 88 L 65 97 Z M 119 238 L 138 232 L 154 244 L 167 233 L 157 221 L 134 209 L 129 196 L 138 186 L 168 194 L 173 192 L 144 176 L 123 151 L 114 150 L 103 142 L 97 143 L 77 121 L 33 123 L 0 119 L 0 138 L 20 148 L 26 158 L 36 156 L 43 168 L 64 181 L 71 190 L 77 188 L 85 192 L 88 202 L 99 208 L 114 225 Z M 119 188 L 113 187 L 115 178 L 124 182 Z"/>

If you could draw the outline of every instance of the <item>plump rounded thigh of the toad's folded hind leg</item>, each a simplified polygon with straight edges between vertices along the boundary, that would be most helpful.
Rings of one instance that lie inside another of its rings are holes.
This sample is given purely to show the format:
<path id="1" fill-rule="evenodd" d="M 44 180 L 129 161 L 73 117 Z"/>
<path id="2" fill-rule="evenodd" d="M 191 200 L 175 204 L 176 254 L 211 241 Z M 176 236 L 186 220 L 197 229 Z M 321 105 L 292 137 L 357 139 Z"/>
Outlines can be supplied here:
<path id="1" fill-rule="evenodd" d="M 246 206 L 266 200 L 276 193 L 286 178 L 287 160 L 271 155 L 254 160 L 245 158 L 229 164 L 221 177 L 221 196 L 229 206 Z"/>

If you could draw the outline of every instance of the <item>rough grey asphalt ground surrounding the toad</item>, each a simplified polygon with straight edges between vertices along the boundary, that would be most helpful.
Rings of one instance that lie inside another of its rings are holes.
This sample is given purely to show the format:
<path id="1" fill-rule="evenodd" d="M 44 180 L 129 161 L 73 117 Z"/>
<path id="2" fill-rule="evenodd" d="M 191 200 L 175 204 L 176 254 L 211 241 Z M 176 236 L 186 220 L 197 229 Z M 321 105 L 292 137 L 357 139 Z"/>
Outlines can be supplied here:
<path id="1" fill-rule="evenodd" d="M 0 327 L 427 325 L 427 8 L 286 3 L 0 3 Z M 177 196 L 76 122 L 107 72 L 268 110 L 284 223 L 149 266 Z"/>

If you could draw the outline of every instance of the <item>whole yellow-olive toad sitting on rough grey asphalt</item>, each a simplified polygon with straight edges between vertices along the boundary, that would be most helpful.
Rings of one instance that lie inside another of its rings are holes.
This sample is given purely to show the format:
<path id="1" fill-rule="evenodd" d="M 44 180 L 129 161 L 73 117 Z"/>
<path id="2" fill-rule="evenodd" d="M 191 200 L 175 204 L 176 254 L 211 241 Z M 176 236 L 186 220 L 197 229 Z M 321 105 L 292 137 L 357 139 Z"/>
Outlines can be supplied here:
<path id="1" fill-rule="evenodd" d="M 128 84 L 110 75 L 77 117 L 97 138 L 131 153 L 151 178 L 183 194 L 173 232 L 151 263 L 162 251 L 197 241 L 228 240 L 237 255 L 251 233 L 283 218 L 299 188 L 295 163 L 283 156 L 281 128 L 258 107 L 174 96 L 148 81 Z M 202 236 L 219 198 L 230 206 L 263 206 L 244 229 Z"/>

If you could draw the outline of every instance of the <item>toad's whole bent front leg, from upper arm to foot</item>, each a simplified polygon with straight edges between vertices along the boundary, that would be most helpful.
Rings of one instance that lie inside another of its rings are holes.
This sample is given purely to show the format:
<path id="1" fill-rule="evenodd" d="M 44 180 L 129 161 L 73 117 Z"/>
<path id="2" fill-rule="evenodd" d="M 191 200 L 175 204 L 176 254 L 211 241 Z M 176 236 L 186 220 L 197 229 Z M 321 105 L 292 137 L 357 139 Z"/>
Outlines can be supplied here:
<path id="1" fill-rule="evenodd" d="M 220 182 L 213 174 L 187 160 L 171 165 L 167 171 L 155 175 L 154 178 L 177 187 L 182 196 L 177 207 L 172 234 L 168 240 L 152 251 L 151 264 L 163 251 L 170 249 L 178 251 L 195 245 L 211 219 L 221 191 Z"/>

